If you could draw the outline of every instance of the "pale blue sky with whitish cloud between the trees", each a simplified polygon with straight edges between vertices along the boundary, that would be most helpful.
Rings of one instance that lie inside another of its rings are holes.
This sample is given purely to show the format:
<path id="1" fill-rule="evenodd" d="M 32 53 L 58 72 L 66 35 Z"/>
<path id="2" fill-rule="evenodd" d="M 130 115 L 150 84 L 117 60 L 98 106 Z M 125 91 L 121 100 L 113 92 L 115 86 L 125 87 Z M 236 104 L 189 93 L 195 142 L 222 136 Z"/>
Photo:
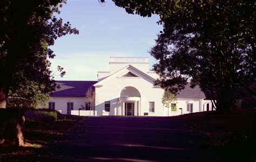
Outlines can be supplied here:
<path id="1" fill-rule="evenodd" d="M 60 65 L 66 71 L 55 80 L 97 80 L 97 71 L 109 71 L 111 56 L 149 57 L 149 50 L 163 29 L 158 15 L 150 18 L 127 14 L 110 0 L 68 0 L 57 17 L 70 22 L 79 35 L 66 35 L 50 46 L 56 57 L 50 59 L 52 71 Z"/>

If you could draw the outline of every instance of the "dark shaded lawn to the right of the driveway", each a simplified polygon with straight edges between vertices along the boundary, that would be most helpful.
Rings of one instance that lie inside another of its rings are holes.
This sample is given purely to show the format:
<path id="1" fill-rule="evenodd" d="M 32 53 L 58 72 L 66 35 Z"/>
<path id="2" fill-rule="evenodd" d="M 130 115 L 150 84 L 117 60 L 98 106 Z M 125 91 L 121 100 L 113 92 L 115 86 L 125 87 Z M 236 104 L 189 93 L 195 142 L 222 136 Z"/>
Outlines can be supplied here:
<path id="1" fill-rule="evenodd" d="M 217 154 L 255 161 L 256 110 L 217 114 L 199 112 L 172 117 L 208 137 L 208 146 Z"/>

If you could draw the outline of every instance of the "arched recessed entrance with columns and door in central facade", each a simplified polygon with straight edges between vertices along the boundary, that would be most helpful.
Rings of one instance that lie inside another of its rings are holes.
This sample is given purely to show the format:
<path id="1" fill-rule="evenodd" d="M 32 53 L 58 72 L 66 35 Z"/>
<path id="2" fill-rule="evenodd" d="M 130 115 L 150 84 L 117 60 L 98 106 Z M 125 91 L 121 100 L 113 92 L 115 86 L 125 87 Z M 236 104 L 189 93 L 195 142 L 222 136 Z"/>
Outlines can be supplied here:
<path id="1" fill-rule="evenodd" d="M 120 97 L 118 98 L 118 115 L 140 115 L 140 93 L 135 87 L 126 86 L 120 92 Z"/>

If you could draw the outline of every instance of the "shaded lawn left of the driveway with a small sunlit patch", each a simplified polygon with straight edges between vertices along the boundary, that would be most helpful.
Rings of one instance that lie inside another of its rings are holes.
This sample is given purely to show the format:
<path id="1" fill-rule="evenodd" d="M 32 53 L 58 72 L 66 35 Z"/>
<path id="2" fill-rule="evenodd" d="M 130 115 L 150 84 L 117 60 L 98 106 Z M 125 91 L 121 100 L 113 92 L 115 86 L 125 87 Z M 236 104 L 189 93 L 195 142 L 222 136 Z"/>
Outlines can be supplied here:
<path id="1" fill-rule="evenodd" d="M 0 147 L 0 161 L 22 161 L 46 143 L 60 142 L 64 132 L 72 129 L 85 117 L 65 115 L 58 121 L 25 120 L 24 145 L 22 147 Z M 36 155 L 35 155 L 36 156 Z"/>

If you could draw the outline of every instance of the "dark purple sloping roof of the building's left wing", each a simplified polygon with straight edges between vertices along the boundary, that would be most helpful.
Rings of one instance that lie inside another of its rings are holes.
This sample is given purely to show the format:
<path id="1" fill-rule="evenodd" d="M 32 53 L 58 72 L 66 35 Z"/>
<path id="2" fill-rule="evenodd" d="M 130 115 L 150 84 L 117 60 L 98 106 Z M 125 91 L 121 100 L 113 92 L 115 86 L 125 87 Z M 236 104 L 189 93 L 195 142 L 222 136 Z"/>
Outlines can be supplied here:
<path id="1" fill-rule="evenodd" d="M 95 90 L 92 86 L 97 81 L 61 81 L 56 80 L 56 84 L 60 85 L 60 89 L 56 89 L 55 92 L 50 93 L 51 97 L 85 97 L 89 87 Z"/>

